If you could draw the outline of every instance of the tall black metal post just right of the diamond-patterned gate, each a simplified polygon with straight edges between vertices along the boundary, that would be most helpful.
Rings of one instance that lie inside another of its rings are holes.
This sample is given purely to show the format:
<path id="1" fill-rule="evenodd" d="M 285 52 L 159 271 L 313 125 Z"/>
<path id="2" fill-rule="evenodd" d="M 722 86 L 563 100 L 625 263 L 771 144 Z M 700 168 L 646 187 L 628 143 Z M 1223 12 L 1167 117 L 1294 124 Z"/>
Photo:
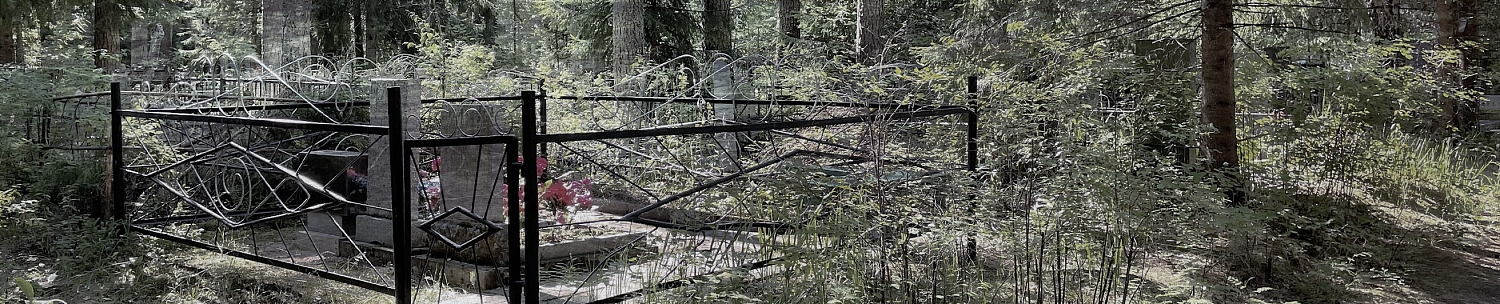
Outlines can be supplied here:
<path id="1" fill-rule="evenodd" d="M 537 222 L 542 213 L 537 210 L 537 186 L 540 184 L 537 175 L 537 93 L 536 91 L 520 91 L 520 177 L 525 183 L 520 186 L 525 189 L 526 201 L 526 283 L 524 291 L 525 303 L 540 303 L 542 297 L 542 255 L 537 247 L 542 247 Z"/>

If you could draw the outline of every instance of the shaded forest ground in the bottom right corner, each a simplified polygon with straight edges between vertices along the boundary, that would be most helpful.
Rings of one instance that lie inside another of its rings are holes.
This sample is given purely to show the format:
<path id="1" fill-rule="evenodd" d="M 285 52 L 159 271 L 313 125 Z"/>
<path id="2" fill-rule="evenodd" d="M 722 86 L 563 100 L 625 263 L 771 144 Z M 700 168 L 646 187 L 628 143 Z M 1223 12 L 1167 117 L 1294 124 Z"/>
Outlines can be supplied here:
<path id="1" fill-rule="evenodd" d="M 1260 193 L 1264 234 L 1214 250 L 1263 301 L 1500 303 L 1500 241 L 1491 225 L 1340 192 Z M 1236 298 L 1215 295 L 1214 298 Z"/>

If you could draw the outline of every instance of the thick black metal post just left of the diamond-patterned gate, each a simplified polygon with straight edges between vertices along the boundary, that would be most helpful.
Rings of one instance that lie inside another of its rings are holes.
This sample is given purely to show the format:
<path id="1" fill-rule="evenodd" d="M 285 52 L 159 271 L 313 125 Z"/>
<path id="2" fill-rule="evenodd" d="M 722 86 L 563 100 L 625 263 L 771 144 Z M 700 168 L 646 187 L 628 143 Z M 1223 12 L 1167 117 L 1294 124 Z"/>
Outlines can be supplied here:
<path id="1" fill-rule="evenodd" d="M 400 87 L 386 88 L 387 111 L 390 115 L 388 124 L 390 130 L 386 136 L 390 139 L 390 174 L 394 186 L 390 189 L 392 202 L 392 240 L 394 244 L 394 265 L 396 265 L 396 303 L 410 304 L 411 303 L 411 198 L 408 189 L 411 187 L 411 169 L 406 168 L 411 154 L 406 151 L 406 135 L 405 135 L 405 114 L 400 111 Z"/>

